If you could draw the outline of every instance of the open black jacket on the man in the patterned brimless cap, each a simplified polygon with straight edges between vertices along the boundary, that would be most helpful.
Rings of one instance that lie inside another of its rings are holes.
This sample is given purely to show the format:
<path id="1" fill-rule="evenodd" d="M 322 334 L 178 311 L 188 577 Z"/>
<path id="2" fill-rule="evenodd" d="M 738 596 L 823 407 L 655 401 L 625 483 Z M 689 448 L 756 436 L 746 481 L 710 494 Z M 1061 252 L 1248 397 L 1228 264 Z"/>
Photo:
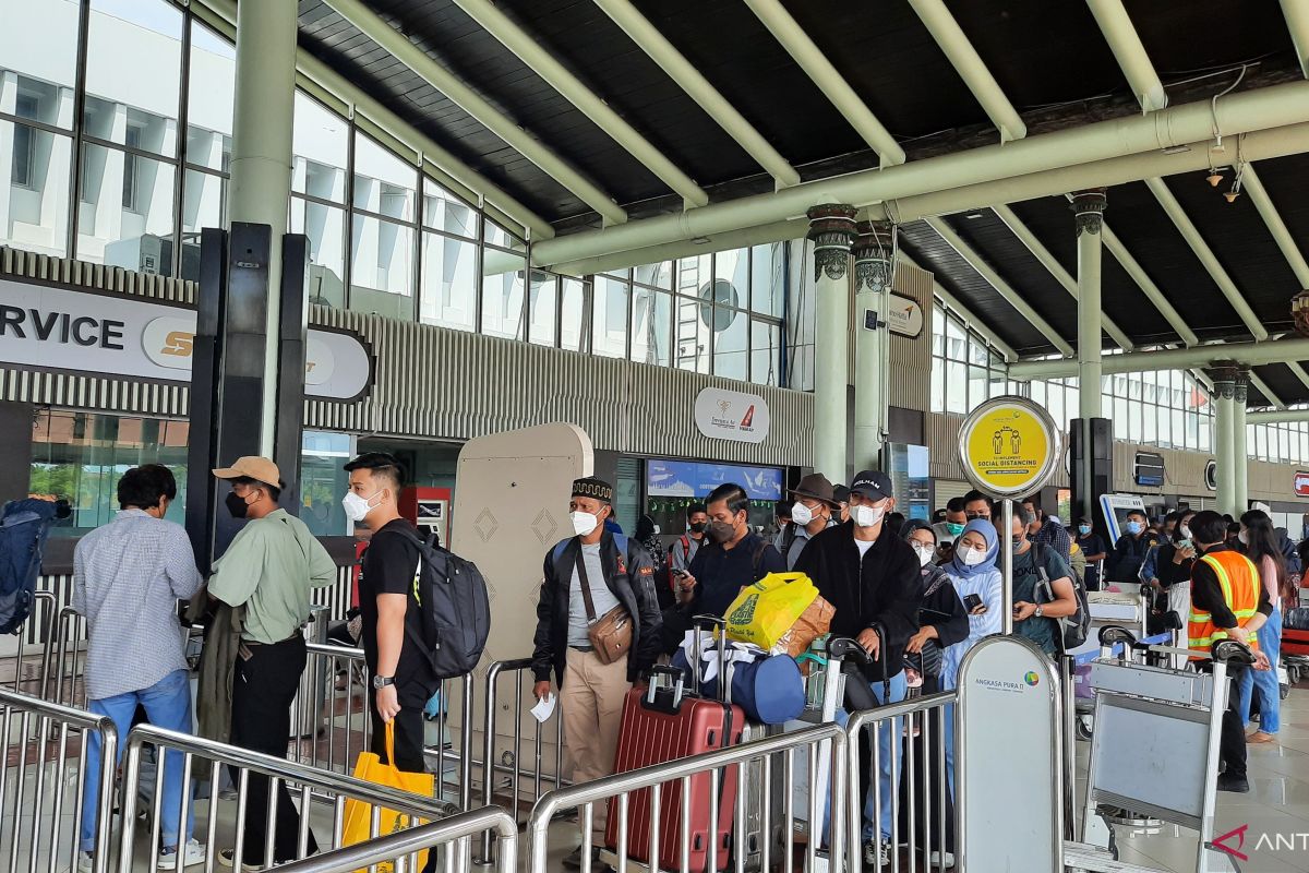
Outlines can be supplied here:
<path id="1" fill-rule="evenodd" d="M 555 560 L 558 544 L 546 552 L 545 582 L 541 585 L 541 601 L 537 603 L 531 671 L 537 682 L 545 682 L 554 670 L 555 682 L 560 687 L 568 658 L 568 596 L 572 589 L 573 568 L 581 554 L 577 543 L 577 537 L 564 541 L 559 560 Z M 627 681 L 635 682 L 637 674 L 649 670 L 660 653 L 662 619 L 654 593 L 653 563 L 645 548 L 635 539 L 627 539 L 627 554 L 623 555 L 614 534 L 607 530 L 600 538 L 600 561 L 605 567 L 605 585 L 618 602 L 627 607 L 634 619 Z M 592 580 L 592 584 L 594 581 Z"/>

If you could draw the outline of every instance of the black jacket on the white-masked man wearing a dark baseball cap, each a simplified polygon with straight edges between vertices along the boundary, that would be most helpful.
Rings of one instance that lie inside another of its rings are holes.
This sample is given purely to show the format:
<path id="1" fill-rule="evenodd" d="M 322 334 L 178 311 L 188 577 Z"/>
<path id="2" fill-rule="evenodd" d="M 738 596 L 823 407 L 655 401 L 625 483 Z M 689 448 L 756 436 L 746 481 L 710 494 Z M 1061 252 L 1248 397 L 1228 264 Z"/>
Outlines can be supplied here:
<path id="1" fill-rule="evenodd" d="M 809 541 L 796 561 L 836 614 L 833 636 L 857 637 L 874 623 L 886 630 L 877 661 L 864 668 L 873 681 L 905 668 L 905 644 L 918 632 L 918 610 L 923 603 L 923 573 L 918 555 L 907 542 L 885 525 L 877 542 L 863 560 L 855 546 L 855 525 L 847 521 L 829 527 Z"/>

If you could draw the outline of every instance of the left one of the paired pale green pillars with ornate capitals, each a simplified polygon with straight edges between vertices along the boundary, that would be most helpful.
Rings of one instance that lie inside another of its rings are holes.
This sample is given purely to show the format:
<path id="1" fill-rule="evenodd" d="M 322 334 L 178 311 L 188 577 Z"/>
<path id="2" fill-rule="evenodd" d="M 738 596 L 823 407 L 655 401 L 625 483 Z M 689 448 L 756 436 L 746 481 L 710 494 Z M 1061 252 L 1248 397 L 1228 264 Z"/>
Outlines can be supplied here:
<path id="1" fill-rule="evenodd" d="M 814 243 L 814 470 L 833 482 L 846 482 L 855 208 L 829 203 L 806 215 Z"/>

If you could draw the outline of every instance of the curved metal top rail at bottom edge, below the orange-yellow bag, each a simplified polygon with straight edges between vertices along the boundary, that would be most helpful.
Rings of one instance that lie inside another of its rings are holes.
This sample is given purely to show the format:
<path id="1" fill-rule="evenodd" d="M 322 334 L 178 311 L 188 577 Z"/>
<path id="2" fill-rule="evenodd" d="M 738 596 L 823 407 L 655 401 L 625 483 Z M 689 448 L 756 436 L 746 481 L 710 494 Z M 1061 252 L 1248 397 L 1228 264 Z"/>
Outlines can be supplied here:
<path id="1" fill-rule="evenodd" d="M 415 855 L 425 848 L 453 843 L 487 831 L 495 831 L 501 848 L 495 869 L 513 873 L 518 863 L 518 826 L 499 806 L 483 806 L 459 813 L 440 822 L 420 825 L 398 834 L 387 834 L 367 843 L 322 852 L 313 857 L 280 864 L 281 873 L 352 873 L 395 857 Z"/>

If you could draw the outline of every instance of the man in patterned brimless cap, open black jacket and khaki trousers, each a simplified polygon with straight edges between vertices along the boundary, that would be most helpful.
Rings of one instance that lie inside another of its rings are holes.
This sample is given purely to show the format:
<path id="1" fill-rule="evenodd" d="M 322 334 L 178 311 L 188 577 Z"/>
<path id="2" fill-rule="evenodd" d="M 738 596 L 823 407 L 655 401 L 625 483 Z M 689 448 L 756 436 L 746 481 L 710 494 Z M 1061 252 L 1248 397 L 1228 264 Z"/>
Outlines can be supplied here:
<path id="1" fill-rule="evenodd" d="M 614 487 L 602 479 L 573 482 L 568 518 L 576 535 L 546 554 L 537 605 L 534 694 L 546 699 L 554 674 L 575 784 L 614 771 L 623 700 L 632 682 L 653 666 L 661 643 L 653 563 L 639 542 L 605 529 L 614 513 L 613 500 Z M 615 609 L 630 616 L 632 643 L 627 653 L 606 664 L 589 631 L 594 620 Z M 598 805 L 592 828 L 603 834 L 605 821 L 605 808 Z M 593 843 L 593 865 L 600 844 L 600 839 Z M 564 865 L 580 868 L 581 849 L 565 857 Z"/>

